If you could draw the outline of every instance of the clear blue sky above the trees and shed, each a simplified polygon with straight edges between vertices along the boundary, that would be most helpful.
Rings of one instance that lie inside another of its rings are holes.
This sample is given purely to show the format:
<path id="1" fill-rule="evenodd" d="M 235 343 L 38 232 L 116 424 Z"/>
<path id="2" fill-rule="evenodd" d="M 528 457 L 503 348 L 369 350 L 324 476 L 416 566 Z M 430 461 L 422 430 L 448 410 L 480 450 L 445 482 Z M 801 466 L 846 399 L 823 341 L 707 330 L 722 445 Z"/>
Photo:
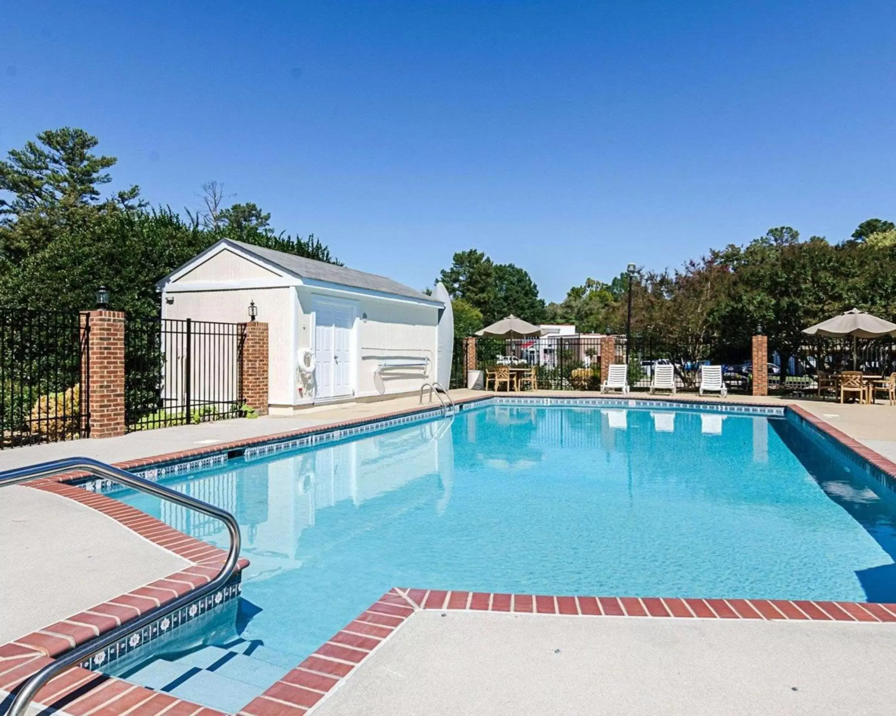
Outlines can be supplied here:
<path id="1" fill-rule="evenodd" d="M 0 149 L 80 126 L 116 184 L 216 179 L 349 266 L 476 247 L 549 300 L 770 226 L 896 219 L 896 3 L 0 1 Z"/>

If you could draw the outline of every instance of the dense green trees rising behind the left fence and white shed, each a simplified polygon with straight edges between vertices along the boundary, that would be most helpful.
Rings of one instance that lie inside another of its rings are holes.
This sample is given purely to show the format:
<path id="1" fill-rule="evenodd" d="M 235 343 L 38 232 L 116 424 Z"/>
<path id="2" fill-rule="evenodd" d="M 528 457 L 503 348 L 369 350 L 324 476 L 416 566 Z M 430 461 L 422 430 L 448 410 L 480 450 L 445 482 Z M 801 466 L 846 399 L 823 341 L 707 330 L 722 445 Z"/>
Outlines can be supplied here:
<path id="1" fill-rule="evenodd" d="M 220 209 L 218 183 L 203 185 L 215 212 L 211 223 L 204 215 L 184 221 L 168 208 L 147 210 L 136 186 L 103 198 L 99 188 L 116 159 L 91 152 L 95 137 L 64 128 L 38 140 L 0 162 L 0 304 L 78 311 L 106 285 L 113 308 L 155 315 L 156 282 L 228 232 L 338 263 L 314 234 L 275 235 L 270 215 L 252 203 Z"/>

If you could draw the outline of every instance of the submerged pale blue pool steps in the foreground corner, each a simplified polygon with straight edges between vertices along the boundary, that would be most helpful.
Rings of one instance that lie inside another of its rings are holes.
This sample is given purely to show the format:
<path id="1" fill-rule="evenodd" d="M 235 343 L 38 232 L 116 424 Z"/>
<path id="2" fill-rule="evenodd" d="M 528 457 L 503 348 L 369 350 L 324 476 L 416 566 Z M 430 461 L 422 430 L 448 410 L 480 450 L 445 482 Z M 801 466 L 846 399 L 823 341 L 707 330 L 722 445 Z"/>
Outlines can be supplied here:
<path id="1" fill-rule="evenodd" d="M 224 712 L 238 712 L 282 678 L 298 659 L 257 642 L 240 640 L 164 657 L 124 675 L 128 681 Z"/>

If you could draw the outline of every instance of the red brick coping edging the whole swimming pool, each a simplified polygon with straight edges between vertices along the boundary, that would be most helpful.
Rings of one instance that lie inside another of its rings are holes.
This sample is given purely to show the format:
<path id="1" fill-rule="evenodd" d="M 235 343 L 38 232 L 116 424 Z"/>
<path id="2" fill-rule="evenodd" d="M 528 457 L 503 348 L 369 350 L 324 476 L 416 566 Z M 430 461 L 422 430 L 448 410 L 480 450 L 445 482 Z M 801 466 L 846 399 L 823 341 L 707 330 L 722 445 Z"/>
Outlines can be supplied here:
<path id="1" fill-rule="evenodd" d="M 493 394 L 473 396 L 455 401 L 457 405 L 472 404 Z M 542 397 L 542 396 L 537 396 Z M 568 396 L 590 397 L 590 396 Z M 594 396 L 599 397 L 599 396 Z M 547 396 L 550 400 L 550 396 Z M 618 399 L 618 398 L 616 398 Z M 631 400 L 676 402 L 668 396 L 629 396 Z M 700 405 L 699 401 L 680 400 L 685 405 Z M 780 407 L 780 405 L 745 401 L 712 401 L 714 405 L 749 405 Z M 864 446 L 830 423 L 809 413 L 799 405 L 784 405 L 818 430 L 848 447 L 884 473 L 896 478 L 896 464 Z M 265 443 L 299 438 L 315 432 L 339 430 L 370 422 L 380 422 L 403 415 L 426 413 L 433 405 L 421 405 L 402 411 L 380 413 L 349 421 L 328 423 L 300 430 L 264 435 L 255 438 L 219 443 L 213 446 L 166 453 L 116 463 L 125 470 L 179 463 L 205 456 L 219 455 Z M 117 624 L 132 619 L 160 604 L 175 599 L 179 594 L 204 584 L 217 574 L 223 564 L 224 552 L 206 542 L 190 537 L 155 517 L 142 513 L 105 495 L 65 484 L 87 476 L 86 473 L 65 473 L 52 478 L 31 481 L 29 487 L 47 490 L 74 499 L 86 507 L 124 524 L 135 533 L 166 550 L 194 563 L 175 575 L 146 584 L 133 592 L 116 597 L 73 617 L 56 622 L 10 644 L 0 645 L 0 695 L 12 693 L 30 675 L 41 669 L 52 658 L 82 644 Z M 239 568 L 248 564 L 240 559 Z M 744 599 L 677 599 L 636 597 L 570 597 L 547 595 L 503 594 L 489 592 L 445 592 L 419 589 L 392 589 L 366 609 L 349 626 L 340 630 L 330 641 L 296 669 L 267 689 L 263 695 L 247 704 L 242 716 L 298 716 L 304 714 L 324 695 L 341 683 L 366 656 L 418 609 L 452 609 L 554 614 L 590 617 L 642 618 L 754 618 L 837 620 L 856 622 L 894 622 L 896 605 L 865 602 L 780 601 Z M 186 702 L 174 696 L 130 684 L 123 679 L 107 677 L 94 671 L 74 667 L 51 680 L 39 692 L 38 703 L 52 707 L 69 716 L 98 716 L 128 714 L 128 716 L 221 716 L 221 712 L 200 704 Z"/>

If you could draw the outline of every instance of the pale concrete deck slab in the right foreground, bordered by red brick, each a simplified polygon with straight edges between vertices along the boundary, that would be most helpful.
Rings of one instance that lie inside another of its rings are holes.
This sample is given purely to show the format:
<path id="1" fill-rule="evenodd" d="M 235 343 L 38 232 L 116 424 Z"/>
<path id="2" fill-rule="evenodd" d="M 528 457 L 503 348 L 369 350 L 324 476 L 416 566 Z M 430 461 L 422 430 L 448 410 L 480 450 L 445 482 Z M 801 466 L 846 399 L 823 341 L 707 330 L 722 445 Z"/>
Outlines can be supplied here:
<path id="1" fill-rule="evenodd" d="M 424 610 L 310 712 L 884 714 L 896 625 Z"/>

